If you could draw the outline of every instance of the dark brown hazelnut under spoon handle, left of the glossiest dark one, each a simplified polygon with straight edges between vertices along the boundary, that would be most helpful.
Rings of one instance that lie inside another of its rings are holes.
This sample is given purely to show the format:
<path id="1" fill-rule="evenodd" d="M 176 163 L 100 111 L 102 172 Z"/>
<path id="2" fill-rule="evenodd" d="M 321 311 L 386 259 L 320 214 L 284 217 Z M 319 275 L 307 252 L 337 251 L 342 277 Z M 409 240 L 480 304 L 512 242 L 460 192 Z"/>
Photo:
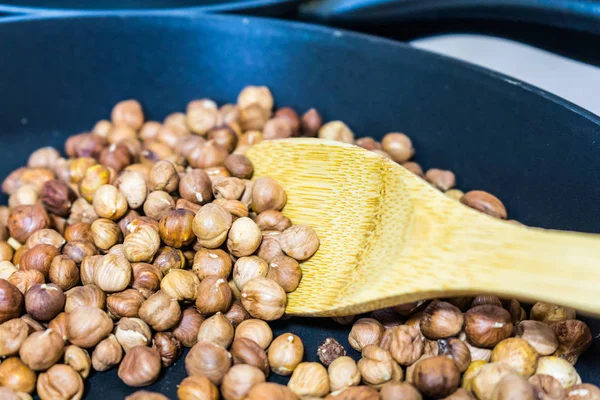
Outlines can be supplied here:
<path id="1" fill-rule="evenodd" d="M 430 303 L 423 310 L 421 332 L 427 339 L 437 340 L 456 336 L 462 330 L 462 312 L 445 301 Z"/>

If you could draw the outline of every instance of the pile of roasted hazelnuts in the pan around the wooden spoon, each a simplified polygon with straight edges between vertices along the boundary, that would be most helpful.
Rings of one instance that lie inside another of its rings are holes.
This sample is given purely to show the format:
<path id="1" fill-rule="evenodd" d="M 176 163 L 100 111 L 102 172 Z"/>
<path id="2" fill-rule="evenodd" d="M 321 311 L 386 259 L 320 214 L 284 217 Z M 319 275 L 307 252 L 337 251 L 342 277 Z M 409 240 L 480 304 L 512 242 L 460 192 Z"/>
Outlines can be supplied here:
<path id="1" fill-rule="evenodd" d="M 181 400 L 599 398 L 573 368 L 590 330 L 559 306 L 538 303 L 525 320 L 516 300 L 479 296 L 335 319 L 358 318 L 348 337 L 358 362 L 333 338 L 318 349 L 321 363 L 303 362 L 295 334 L 274 338 L 266 321 L 284 316 L 319 239 L 282 214 L 278 182 L 253 177 L 251 145 L 355 143 L 507 216 L 491 194 L 454 189 L 452 172 L 423 174 L 402 133 L 355 140 L 314 109 L 273 106 L 266 87 L 249 86 L 237 104 L 196 100 L 159 123 L 122 101 L 110 121 L 67 140 L 66 158 L 39 149 L 3 181 L 0 398 L 81 399 L 92 370 L 111 368 L 129 386 L 148 386 L 183 348 Z M 270 374 L 289 383 L 267 382 Z M 142 390 L 127 399 L 167 397 Z"/>

